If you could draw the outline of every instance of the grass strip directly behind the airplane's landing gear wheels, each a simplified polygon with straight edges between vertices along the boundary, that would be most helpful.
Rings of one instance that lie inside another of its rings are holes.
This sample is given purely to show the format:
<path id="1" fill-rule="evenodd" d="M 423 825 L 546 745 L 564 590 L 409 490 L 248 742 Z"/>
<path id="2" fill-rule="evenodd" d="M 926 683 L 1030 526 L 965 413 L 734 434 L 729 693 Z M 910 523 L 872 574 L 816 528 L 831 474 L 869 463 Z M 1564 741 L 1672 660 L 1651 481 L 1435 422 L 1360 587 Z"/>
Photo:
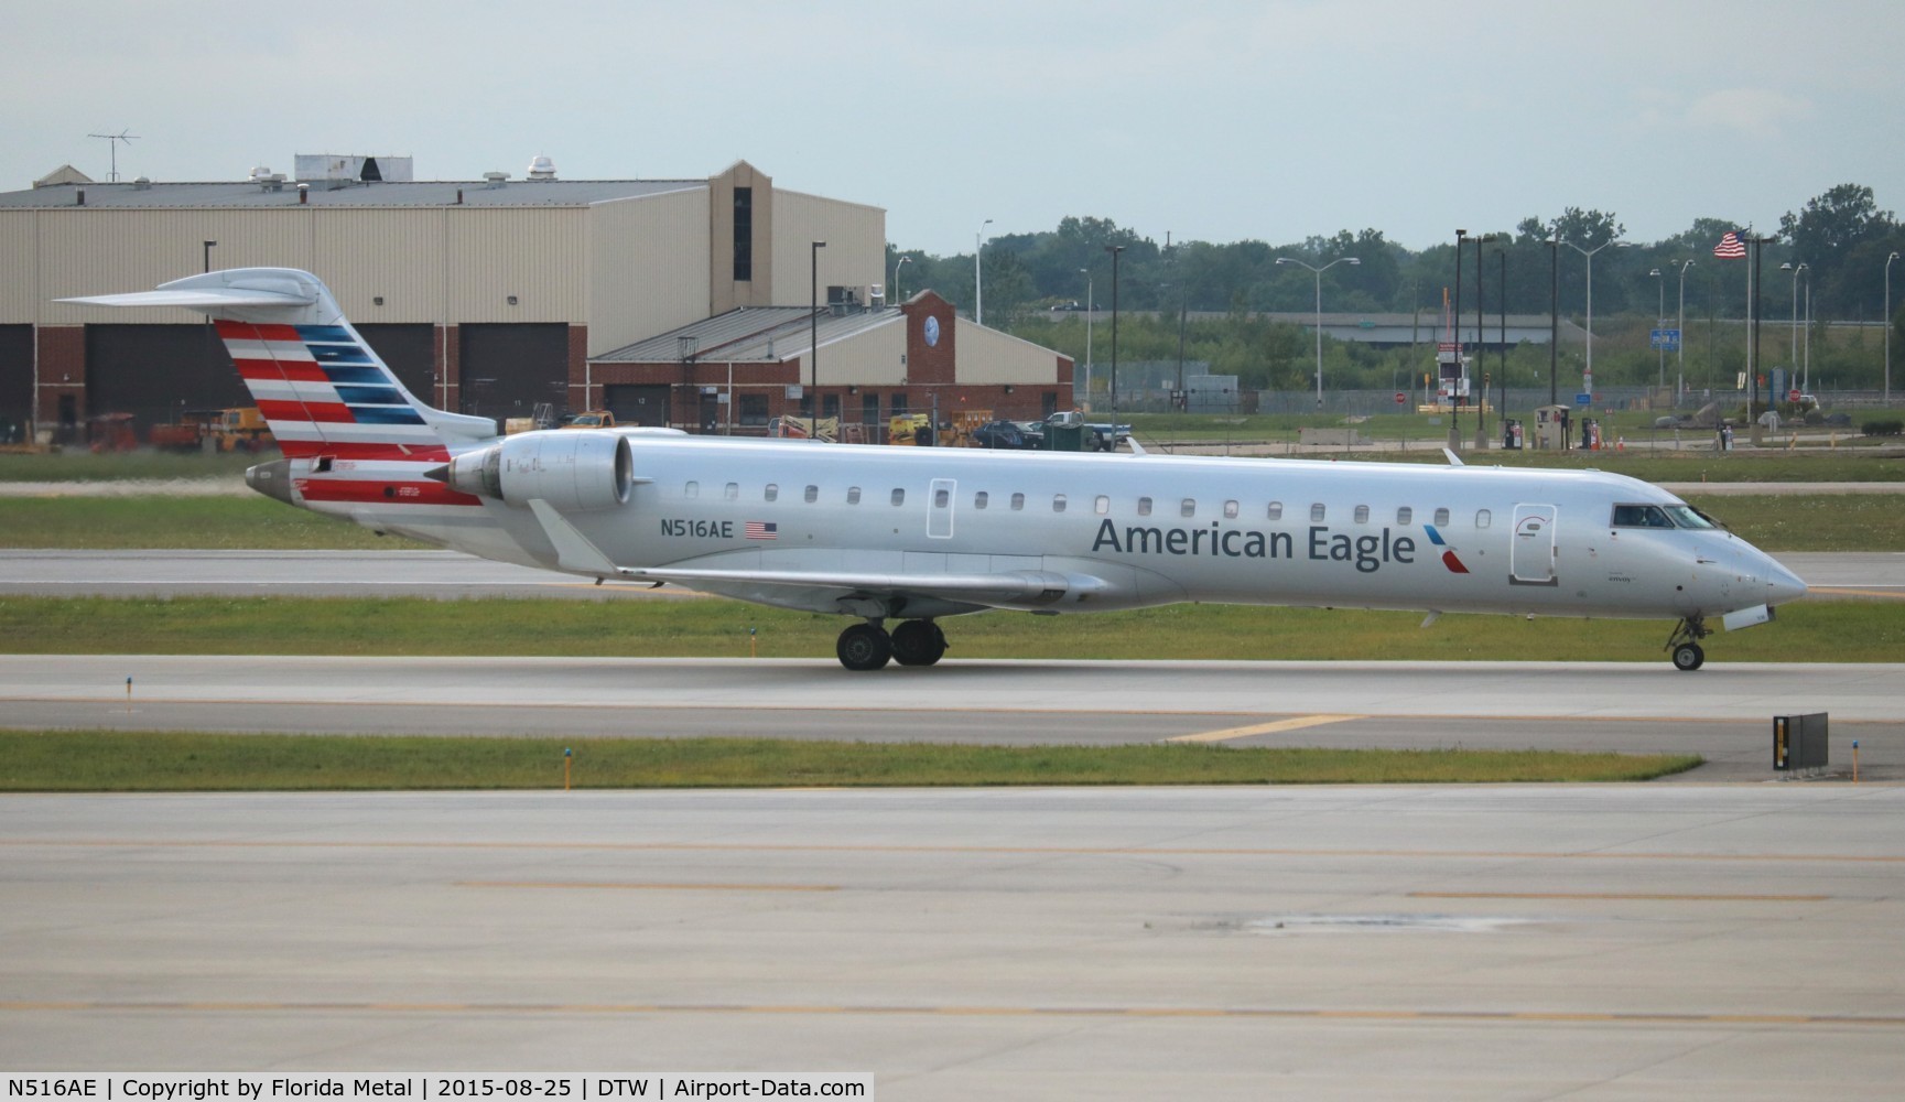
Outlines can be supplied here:
<path id="1" fill-rule="evenodd" d="M 994 612 L 945 622 L 951 658 L 1665 662 L 1654 620 L 1172 604 L 1092 616 Z M 429 601 L 0 597 L 13 654 L 356 654 L 832 658 L 848 622 L 733 601 Z M 1802 602 L 1707 641 L 1713 662 L 1899 662 L 1905 608 Z"/>

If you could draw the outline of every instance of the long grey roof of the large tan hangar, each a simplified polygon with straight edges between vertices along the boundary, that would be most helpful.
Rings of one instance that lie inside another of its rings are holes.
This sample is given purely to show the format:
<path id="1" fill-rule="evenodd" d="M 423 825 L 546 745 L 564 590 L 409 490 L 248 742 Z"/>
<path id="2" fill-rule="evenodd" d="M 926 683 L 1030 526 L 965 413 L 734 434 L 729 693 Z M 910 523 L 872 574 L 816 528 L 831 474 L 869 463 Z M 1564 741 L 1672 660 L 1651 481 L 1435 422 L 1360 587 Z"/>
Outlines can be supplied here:
<path id="1" fill-rule="evenodd" d="M 672 191 L 705 189 L 707 179 L 511 179 L 490 187 L 484 179 L 438 181 L 311 181 L 309 206 L 328 208 L 581 208 L 619 198 L 642 198 Z M 80 204 L 107 210 L 271 210 L 299 206 L 297 181 L 282 181 L 278 191 L 236 179 L 217 183 L 50 183 L 29 191 L 0 193 L 0 210 L 51 210 Z M 459 198 L 461 196 L 461 198 Z"/>

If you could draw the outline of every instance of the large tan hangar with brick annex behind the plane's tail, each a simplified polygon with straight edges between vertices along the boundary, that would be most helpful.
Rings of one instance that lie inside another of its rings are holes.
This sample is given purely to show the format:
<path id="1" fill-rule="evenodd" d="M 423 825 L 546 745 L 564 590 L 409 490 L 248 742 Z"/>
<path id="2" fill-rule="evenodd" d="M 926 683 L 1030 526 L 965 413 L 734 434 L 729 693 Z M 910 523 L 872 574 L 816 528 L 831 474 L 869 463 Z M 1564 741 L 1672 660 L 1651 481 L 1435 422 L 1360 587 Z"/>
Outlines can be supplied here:
<path id="1" fill-rule="evenodd" d="M 526 179 L 474 181 L 356 154 L 211 183 L 61 170 L 0 193 L 0 431 L 55 442 L 109 412 L 143 433 L 248 404 L 202 322 L 55 301 L 225 267 L 316 273 L 411 393 L 499 421 L 549 402 L 758 435 L 817 404 L 878 439 L 892 414 L 1071 400 L 1069 357 L 932 292 L 884 299 L 884 210 L 777 189 L 747 162 L 594 181 L 541 156 Z"/>

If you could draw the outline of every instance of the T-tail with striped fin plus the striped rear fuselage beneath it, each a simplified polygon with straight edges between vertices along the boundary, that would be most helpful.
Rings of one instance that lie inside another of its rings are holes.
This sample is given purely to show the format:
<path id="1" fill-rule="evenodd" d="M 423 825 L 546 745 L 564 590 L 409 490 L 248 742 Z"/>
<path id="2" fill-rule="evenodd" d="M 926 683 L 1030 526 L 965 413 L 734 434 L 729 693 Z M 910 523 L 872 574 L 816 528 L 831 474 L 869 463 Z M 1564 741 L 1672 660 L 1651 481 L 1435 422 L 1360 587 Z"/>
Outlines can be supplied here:
<path id="1" fill-rule="evenodd" d="M 150 292 L 61 301 L 185 307 L 213 318 L 284 452 L 246 473 L 261 492 L 360 522 L 371 522 L 370 513 L 417 520 L 480 505 L 429 473 L 493 439 L 495 421 L 417 400 L 311 273 L 229 269 Z"/>

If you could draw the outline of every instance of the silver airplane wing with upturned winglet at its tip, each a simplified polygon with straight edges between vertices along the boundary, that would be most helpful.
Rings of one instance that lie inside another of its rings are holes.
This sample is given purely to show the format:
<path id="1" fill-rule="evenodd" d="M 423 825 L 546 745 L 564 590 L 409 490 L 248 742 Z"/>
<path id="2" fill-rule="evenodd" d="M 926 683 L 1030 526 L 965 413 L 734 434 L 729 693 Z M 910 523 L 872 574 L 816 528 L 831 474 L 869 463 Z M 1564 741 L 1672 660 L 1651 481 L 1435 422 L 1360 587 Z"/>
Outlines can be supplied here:
<path id="1" fill-rule="evenodd" d="M 972 606 L 1044 606 L 1059 601 L 1078 601 L 1111 585 L 1090 574 L 1059 574 L 1053 570 L 1002 570 L 989 574 L 893 574 L 852 570 L 760 570 L 760 568 L 682 568 L 682 566 L 617 566 L 587 536 L 543 500 L 531 500 L 530 511 L 556 547 L 556 562 L 564 570 L 596 574 L 600 578 L 632 578 L 636 582 L 674 582 L 690 589 L 787 589 L 832 591 L 838 599 L 855 597 L 933 597 Z"/>

